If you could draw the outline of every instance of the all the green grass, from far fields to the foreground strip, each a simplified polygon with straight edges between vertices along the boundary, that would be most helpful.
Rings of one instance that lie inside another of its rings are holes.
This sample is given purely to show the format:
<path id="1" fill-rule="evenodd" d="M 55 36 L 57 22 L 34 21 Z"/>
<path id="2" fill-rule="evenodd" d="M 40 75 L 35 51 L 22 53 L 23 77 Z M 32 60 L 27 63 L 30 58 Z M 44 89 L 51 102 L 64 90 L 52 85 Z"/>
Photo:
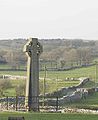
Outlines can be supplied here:
<path id="1" fill-rule="evenodd" d="M 47 71 L 46 74 L 46 92 L 55 91 L 61 87 L 68 87 L 77 85 L 79 81 L 66 81 L 66 78 L 79 78 L 90 77 L 92 81 L 86 84 L 85 88 L 90 88 L 95 85 L 96 78 L 95 66 L 79 68 L 69 71 Z M 26 71 L 0 71 L 0 75 L 20 75 L 26 76 Z M 40 71 L 40 92 L 43 93 L 43 79 L 45 76 L 44 71 Z M 15 86 L 23 84 L 24 80 L 11 80 L 13 88 L 5 91 L 5 95 L 15 95 Z M 78 102 L 67 103 L 65 107 L 78 107 L 78 108 L 90 108 L 98 109 L 98 93 L 89 96 L 86 99 L 82 99 Z M 25 120 L 97 120 L 98 115 L 92 114 L 45 114 L 45 113 L 3 113 L 0 112 L 0 120 L 7 120 L 8 116 L 24 116 Z"/>

